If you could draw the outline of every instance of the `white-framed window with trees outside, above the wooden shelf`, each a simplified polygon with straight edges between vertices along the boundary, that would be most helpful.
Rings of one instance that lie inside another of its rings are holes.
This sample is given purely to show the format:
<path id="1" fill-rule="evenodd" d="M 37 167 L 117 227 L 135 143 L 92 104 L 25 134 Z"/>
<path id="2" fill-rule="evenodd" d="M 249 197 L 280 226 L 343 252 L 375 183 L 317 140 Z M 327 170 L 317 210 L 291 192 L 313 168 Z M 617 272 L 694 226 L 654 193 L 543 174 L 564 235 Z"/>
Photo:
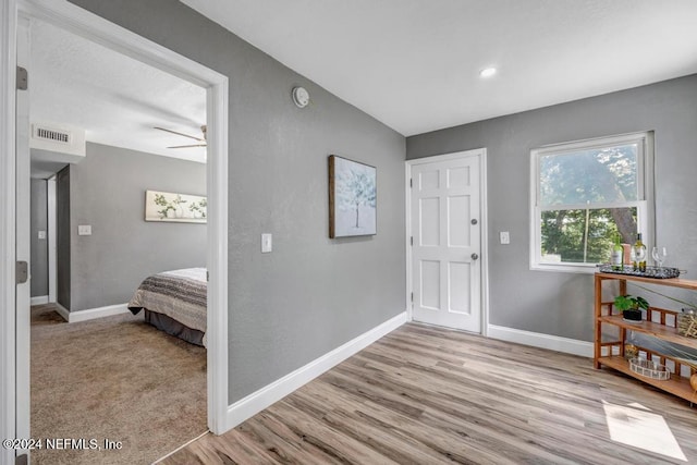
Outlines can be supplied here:
<path id="1" fill-rule="evenodd" d="M 616 234 L 650 243 L 652 146 L 647 132 L 530 151 L 531 269 L 592 272 Z"/>

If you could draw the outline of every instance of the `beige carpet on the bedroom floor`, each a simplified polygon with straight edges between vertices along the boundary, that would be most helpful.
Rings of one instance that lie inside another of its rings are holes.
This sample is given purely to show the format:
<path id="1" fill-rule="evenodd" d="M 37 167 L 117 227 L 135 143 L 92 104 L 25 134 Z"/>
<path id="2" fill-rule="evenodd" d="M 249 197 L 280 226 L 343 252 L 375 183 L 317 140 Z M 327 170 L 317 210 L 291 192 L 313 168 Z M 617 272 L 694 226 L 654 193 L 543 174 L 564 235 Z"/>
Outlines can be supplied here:
<path id="1" fill-rule="evenodd" d="M 204 347 L 142 316 L 69 325 L 32 308 L 32 437 L 68 440 L 34 451 L 34 464 L 149 464 L 206 429 Z M 80 439 L 99 449 L 72 449 Z"/>

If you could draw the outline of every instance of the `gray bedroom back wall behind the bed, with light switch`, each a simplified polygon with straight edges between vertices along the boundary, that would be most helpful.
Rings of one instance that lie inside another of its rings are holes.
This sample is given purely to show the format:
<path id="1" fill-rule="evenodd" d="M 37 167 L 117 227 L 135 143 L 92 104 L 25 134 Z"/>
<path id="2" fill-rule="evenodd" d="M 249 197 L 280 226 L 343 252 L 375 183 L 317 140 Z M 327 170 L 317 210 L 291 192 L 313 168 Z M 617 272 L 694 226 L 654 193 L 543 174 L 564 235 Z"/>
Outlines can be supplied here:
<path id="1" fill-rule="evenodd" d="M 70 167 L 71 311 L 125 304 L 154 272 L 206 266 L 205 224 L 145 221 L 146 189 L 206 195 L 205 164 L 94 143 L 86 154 Z"/>

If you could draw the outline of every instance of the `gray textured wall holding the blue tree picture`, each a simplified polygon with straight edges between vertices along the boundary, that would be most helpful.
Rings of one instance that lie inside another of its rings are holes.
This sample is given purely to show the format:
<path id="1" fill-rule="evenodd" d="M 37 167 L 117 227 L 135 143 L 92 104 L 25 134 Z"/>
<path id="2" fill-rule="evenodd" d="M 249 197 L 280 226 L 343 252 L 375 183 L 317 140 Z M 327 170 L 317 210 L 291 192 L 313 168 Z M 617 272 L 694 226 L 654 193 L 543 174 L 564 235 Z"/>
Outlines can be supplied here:
<path id="1" fill-rule="evenodd" d="M 402 135 L 178 1 L 73 3 L 230 79 L 230 403 L 405 310 Z M 377 167 L 378 235 L 328 238 L 330 154 Z"/>

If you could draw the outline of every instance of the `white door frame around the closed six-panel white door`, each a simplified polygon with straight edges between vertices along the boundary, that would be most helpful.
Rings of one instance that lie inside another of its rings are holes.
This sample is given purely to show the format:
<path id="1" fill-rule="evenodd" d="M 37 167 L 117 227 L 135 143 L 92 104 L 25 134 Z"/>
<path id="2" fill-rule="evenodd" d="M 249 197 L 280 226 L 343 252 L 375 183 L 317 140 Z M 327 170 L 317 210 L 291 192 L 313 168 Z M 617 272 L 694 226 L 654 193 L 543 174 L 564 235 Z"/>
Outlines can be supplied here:
<path id="1" fill-rule="evenodd" d="M 489 241 L 488 241 L 488 211 L 487 211 L 487 149 L 477 148 L 474 150 L 457 151 L 453 154 L 438 155 L 433 157 L 416 158 L 414 160 L 406 160 L 404 176 L 405 176 L 405 213 L 406 213 L 406 302 L 407 302 L 407 316 L 408 320 L 413 320 L 414 303 L 412 296 L 414 295 L 413 289 L 413 273 L 412 273 L 412 167 L 416 164 L 435 163 L 439 161 L 458 160 L 467 157 L 479 157 L 479 188 L 481 189 L 479 195 L 479 207 L 481 211 L 481 335 L 487 335 L 487 328 L 489 327 Z"/>

